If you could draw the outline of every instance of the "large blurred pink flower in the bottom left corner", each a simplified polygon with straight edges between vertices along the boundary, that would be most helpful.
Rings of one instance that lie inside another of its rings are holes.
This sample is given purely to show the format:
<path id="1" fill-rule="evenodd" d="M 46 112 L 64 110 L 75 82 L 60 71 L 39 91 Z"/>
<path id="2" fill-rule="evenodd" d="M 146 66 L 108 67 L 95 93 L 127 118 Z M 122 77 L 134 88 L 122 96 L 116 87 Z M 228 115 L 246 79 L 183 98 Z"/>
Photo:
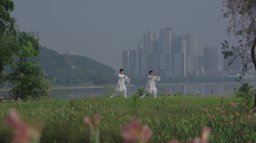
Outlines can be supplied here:
<path id="1" fill-rule="evenodd" d="M 22 122 L 15 109 L 10 109 L 9 117 L 5 121 L 15 130 L 12 143 L 34 143 L 40 141 L 41 132 Z"/>

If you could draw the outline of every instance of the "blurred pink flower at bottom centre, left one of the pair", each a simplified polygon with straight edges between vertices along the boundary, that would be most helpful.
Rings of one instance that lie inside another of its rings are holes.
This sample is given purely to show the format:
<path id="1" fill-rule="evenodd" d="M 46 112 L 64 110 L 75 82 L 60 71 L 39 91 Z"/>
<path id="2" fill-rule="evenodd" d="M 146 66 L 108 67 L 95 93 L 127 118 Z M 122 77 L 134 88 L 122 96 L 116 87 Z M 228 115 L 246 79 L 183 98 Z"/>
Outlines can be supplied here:
<path id="1" fill-rule="evenodd" d="M 132 121 L 122 127 L 122 137 L 124 137 L 126 143 L 135 142 L 138 139 L 138 134 L 140 132 L 140 122 Z"/>

